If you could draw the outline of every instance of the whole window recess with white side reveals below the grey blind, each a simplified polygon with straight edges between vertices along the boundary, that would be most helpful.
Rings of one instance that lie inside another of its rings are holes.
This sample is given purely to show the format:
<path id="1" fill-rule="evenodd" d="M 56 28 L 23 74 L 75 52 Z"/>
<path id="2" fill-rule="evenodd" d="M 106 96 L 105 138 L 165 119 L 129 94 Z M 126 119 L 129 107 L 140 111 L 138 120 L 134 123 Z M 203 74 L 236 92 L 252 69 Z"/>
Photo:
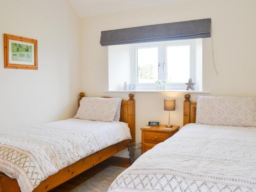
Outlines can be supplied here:
<path id="1" fill-rule="evenodd" d="M 137 90 L 155 90 L 165 81 L 167 90 L 185 90 L 192 78 L 202 91 L 202 39 L 172 40 L 109 46 L 109 90 L 123 83 Z"/>

